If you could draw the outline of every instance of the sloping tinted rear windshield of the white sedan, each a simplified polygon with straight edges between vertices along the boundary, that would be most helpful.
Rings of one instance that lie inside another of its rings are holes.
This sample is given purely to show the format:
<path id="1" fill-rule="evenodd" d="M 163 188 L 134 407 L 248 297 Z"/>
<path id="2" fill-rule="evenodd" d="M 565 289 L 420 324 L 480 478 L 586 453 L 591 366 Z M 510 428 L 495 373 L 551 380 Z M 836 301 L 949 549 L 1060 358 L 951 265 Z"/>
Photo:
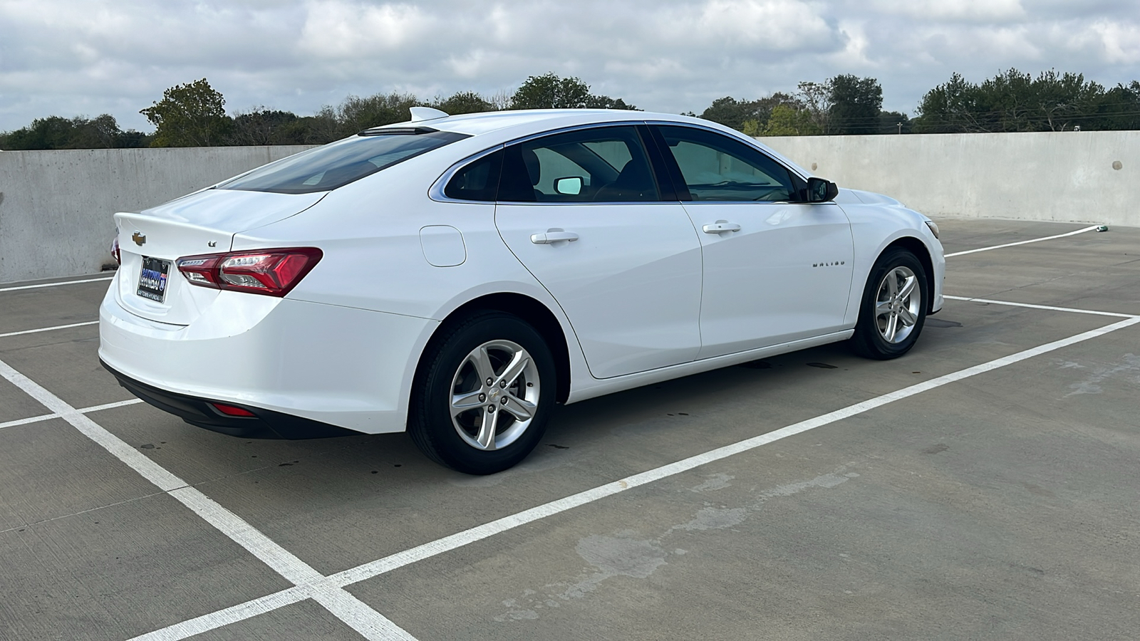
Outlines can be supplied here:
<path id="1" fill-rule="evenodd" d="M 278 194 L 327 192 L 466 137 L 450 131 L 369 132 L 267 164 L 219 187 Z"/>

